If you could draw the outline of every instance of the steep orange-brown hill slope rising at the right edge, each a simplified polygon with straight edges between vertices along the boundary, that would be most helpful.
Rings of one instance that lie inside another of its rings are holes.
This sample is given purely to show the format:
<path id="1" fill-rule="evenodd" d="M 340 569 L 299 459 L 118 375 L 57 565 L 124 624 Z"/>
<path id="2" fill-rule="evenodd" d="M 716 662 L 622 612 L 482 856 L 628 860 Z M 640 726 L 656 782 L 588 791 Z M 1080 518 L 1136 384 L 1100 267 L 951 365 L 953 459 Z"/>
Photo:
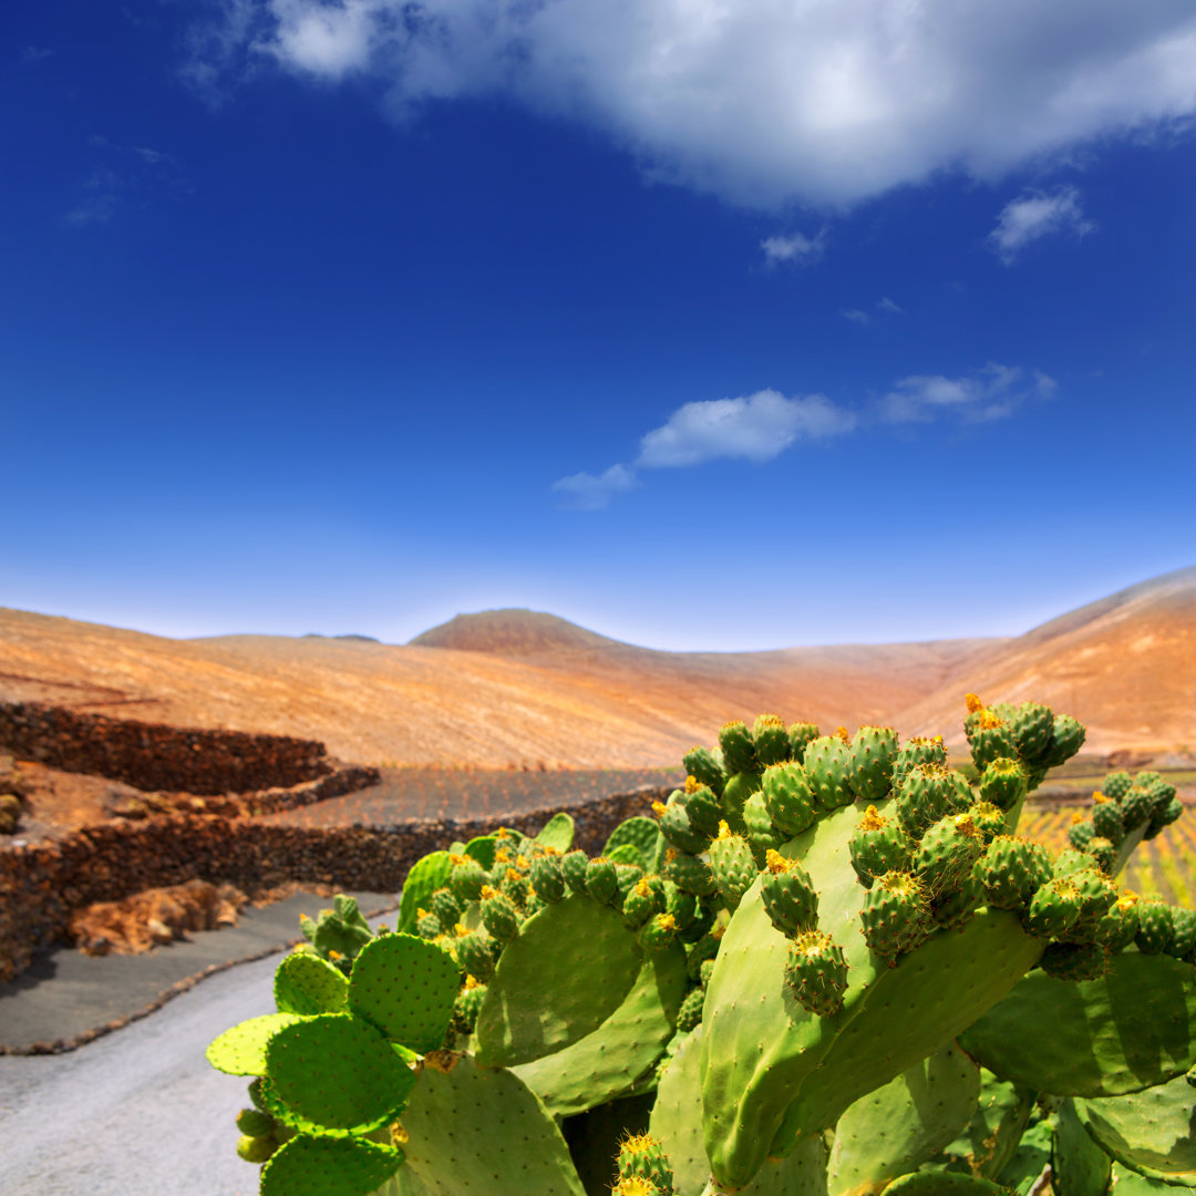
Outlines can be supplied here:
<path id="1" fill-rule="evenodd" d="M 1196 567 L 1043 623 L 903 710 L 910 734 L 962 744 L 963 692 L 1046 702 L 1088 728 L 1086 750 L 1196 746 Z"/>

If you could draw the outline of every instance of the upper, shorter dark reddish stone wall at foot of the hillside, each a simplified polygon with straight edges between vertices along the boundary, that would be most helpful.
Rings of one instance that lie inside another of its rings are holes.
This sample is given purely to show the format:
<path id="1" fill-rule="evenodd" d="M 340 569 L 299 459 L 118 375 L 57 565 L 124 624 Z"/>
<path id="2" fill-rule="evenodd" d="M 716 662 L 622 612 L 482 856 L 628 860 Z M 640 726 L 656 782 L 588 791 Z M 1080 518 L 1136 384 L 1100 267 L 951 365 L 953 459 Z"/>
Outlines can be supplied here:
<path id="1" fill-rule="evenodd" d="M 289 787 L 330 770 L 313 739 L 170 727 L 38 702 L 0 702 L 0 749 L 68 773 L 201 797 Z"/>

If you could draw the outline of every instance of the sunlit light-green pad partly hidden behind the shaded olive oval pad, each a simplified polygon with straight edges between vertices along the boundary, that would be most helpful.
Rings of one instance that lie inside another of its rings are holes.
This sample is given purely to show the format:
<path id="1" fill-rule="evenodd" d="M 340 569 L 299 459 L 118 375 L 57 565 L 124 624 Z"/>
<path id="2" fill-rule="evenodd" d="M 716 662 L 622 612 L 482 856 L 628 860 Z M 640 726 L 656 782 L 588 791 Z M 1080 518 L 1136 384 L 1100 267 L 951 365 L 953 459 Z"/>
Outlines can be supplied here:
<path id="1" fill-rule="evenodd" d="M 660 1057 L 672 1038 L 685 984 L 685 956 L 673 946 L 643 964 L 626 1000 L 597 1030 L 511 1070 L 554 1117 L 604 1104 Z"/>

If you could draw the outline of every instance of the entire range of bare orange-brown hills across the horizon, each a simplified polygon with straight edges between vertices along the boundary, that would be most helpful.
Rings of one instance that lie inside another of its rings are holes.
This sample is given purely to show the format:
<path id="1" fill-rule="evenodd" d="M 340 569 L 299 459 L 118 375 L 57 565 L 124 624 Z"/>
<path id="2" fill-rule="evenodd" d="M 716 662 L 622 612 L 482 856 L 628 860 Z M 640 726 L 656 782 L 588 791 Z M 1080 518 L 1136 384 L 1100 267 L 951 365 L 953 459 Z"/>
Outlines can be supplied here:
<path id="1" fill-rule="evenodd" d="M 761 712 L 958 744 L 969 690 L 1052 703 L 1088 725 L 1091 751 L 1196 745 L 1196 568 L 1013 639 L 773 652 L 657 652 L 523 610 L 460 615 L 404 646 L 171 640 L 0 610 L 0 698 L 300 736 L 373 763 L 675 765 Z"/>

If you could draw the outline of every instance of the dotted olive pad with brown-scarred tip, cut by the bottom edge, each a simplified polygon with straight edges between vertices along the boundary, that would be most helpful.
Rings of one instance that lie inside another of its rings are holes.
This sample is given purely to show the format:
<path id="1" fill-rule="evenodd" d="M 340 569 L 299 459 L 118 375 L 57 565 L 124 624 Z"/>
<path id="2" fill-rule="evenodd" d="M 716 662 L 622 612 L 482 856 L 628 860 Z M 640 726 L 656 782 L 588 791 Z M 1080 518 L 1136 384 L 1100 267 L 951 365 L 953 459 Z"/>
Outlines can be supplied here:
<path id="1" fill-rule="evenodd" d="M 402 1127 L 403 1196 L 585 1196 L 556 1123 L 513 1072 L 438 1051 Z"/>

